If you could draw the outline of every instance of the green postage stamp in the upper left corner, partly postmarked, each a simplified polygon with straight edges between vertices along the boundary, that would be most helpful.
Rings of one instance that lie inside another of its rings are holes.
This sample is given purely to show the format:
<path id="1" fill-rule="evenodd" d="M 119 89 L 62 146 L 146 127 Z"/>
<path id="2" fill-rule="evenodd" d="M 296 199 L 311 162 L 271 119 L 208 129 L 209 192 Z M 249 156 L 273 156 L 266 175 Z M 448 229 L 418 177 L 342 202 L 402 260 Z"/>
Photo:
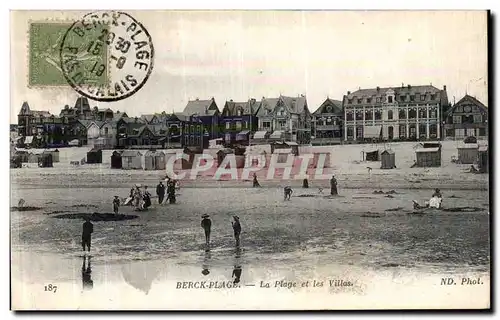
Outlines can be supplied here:
<path id="1" fill-rule="evenodd" d="M 108 73 L 95 72 L 99 66 L 106 65 L 107 46 L 102 43 L 101 50 L 89 45 L 88 38 L 95 38 L 101 34 L 101 28 L 93 28 L 85 37 L 80 37 L 71 30 L 73 22 L 32 22 L 29 26 L 29 72 L 28 84 L 30 87 L 69 86 L 61 67 L 61 49 L 63 40 L 65 46 L 78 48 L 78 63 L 85 65 L 85 84 L 106 84 Z M 84 48 L 86 47 L 86 48 Z M 92 69 L 94 67 L 94 69 Z M 92 72 L 94 71 L 94 72 Z"/>

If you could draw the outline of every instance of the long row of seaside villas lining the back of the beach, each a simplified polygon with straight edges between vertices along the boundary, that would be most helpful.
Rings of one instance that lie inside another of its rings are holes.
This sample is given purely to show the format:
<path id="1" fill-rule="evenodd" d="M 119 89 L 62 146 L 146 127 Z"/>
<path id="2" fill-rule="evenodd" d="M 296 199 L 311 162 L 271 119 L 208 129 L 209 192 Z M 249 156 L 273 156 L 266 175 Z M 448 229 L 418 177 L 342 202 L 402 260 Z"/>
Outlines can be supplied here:
<path id="1" fill-rule="evenodd" d="M 79 97 L 58 116 L 31 110 L 18 114 L 18 141 L 33 147 L 88 145 L 100 148 L 207 148 L 210 140 L 226 146 L 288 141 L 330 145 L 394 140 L 442 140 L 488 136 L 488 109 L 465 95 L 448 102 L 446 86 L 401 85 L 348 91 L 329 97 L 310 112 L 303 95 L 260 101 L 192 100 L 183 112 L 129 117 L 125 112 L 91 108 Z M 16 130 L 14 129 L 14 130 Z M 12 129 L 11 129 L 12 130 Z"/>

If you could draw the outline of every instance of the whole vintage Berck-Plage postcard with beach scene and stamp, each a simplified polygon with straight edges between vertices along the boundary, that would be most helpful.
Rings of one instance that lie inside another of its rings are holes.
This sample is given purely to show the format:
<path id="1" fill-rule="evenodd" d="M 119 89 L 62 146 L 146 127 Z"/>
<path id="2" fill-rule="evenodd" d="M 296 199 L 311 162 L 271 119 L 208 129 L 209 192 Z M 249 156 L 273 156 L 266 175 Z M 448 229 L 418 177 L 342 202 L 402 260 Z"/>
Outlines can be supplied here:
<path id="1" fill-rule="evenodd" d="M 488 19 L 11 11 L 11 308 L 490 309 Z"/>

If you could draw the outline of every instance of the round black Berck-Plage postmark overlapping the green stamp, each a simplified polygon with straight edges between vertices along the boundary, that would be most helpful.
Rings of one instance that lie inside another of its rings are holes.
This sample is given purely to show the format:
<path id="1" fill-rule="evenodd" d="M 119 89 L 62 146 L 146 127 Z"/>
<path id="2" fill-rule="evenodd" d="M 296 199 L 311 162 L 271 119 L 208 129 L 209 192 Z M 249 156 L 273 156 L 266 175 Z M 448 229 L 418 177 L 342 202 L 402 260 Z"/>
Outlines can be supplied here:
<path id="1" fill-rule="evenodd" d="M 60 46 L 66 81 L 96 101 L 118 101 L 139 91 L 153 71 L 153 62 L 151 36 L 124 12 L 85 15 L 66 31 Z"/>

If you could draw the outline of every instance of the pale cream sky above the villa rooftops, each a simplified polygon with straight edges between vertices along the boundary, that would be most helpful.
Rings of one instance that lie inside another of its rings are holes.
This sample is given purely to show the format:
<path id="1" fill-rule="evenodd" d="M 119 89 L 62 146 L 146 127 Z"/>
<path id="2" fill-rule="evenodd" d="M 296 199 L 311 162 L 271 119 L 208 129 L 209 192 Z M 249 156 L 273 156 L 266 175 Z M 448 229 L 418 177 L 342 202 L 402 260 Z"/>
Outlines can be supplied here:
<path id="1" fill-rule="evenodd" d="M 11 123 L 23 101 L 58 115 L 69 86 L 28 88 L 30 21 L 74 21 L 87 12 L 11 12 Z M 447 87 L 488 105 L 485 11 L 127 11 L 153 39 L 153 72 L 138 92 L 91 106 L 129 116 L 181 112 L 188 100 L 306 95 L 316 110 L 359 88 Z"/>

